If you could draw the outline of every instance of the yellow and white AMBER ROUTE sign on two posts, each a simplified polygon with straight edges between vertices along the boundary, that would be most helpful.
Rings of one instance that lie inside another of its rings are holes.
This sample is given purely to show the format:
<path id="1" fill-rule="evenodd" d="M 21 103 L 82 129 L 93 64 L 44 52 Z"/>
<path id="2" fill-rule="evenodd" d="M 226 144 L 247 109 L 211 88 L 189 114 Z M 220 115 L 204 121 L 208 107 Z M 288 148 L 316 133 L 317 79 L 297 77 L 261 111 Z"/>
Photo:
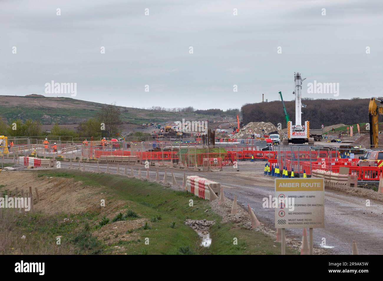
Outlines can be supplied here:
<path id="1" fill-rule="evenodd" d="M 313 229 L 324 227 L 324 179 L 275 179 L 275 228 L 282 228 L 282 255 L 285 255 L 285 228 L 309 228 L 309 253 L 313 254 Z"/>

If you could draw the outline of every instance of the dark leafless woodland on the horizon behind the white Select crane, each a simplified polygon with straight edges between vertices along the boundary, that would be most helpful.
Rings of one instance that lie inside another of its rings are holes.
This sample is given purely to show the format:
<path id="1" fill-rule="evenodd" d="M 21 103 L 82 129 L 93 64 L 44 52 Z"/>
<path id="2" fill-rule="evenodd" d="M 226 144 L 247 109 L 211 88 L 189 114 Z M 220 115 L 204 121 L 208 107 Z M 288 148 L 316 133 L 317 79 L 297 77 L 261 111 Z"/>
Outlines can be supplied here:
<path id="1" fill-rule="evenodd" d="M 381 99 L 381 98 L 378 98 Z M 319 129 L 339 123 L 356 124 L 368 122 L 368 104 L 370 99 L 303 99 L 302 122 L 310 121 L 310 128 Z M 286 111 L 290 120 L 295 123 L 295 100 L 285 101 Z M 244 124 L 249 122 L 282 123 L 286 128 L 285 114 L 281 101 L 245 104 L 241 108 Z"/>

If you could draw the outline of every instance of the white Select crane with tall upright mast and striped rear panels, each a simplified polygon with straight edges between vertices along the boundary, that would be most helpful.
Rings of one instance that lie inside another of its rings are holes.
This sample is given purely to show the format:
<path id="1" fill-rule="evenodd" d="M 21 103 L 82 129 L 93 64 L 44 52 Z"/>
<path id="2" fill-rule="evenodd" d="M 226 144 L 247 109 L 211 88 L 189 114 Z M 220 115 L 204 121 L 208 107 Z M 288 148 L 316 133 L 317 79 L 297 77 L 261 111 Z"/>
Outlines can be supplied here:
<path id="1" fill-rule="evenodd" d="M 306 79 L 306 78 L 304 78 Z M 293 144 L 303 144 L 308 143 L 309 145 L 314 145 L 314 138 L 310 137 L 310 122 L 305 121 L 302 125 L 302 80 L 299 72 L 294 73 L 294 83 L 295 83 L 295 125 L 291 120 L 287 121 L 287 137 L 283 138 L 282 144 L 288 145 L 289 143 Z M 282 95 L 281 95 L 282 96 Z"/>

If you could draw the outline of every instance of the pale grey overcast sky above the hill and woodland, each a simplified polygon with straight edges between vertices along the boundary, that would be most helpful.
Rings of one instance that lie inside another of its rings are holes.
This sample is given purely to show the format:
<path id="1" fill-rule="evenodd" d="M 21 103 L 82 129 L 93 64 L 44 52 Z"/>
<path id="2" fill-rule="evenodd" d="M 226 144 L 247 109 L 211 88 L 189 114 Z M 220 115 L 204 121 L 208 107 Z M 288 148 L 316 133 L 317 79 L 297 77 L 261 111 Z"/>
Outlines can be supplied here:
<path id="1" fill-rule="evenodd" d="M 0 0 L 0 23 L 1 95 L 57 96 L 54 80 L 75 99 L 227 109 L 292 100 L 294 71 L 303 97 L 382 95 L 381 0 Z M 314 80 L 339 96 L 308 94 Z"/>

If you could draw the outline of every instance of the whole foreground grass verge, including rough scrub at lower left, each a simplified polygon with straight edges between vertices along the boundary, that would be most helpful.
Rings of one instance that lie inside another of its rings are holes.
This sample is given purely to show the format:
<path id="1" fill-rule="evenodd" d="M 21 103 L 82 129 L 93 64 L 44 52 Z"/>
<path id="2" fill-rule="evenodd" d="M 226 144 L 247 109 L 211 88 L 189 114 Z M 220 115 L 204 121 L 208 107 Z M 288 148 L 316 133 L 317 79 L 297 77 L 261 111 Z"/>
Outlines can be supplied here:
<path id="1" fill-rule="evenodd" d="M 27 233 L 28 240 L 32 241 L 31 249 L 21 247 L 19 239 L 13 245 L 4 243 L 6 246 L 0 248 L 1 253 L 11 253 L 13 250 L 10 249 L 14 248 L 21 253 L 58 253 L 57 249 L 60 249 L 60 253 L 74 254 L 280 254 L 280 243 L 273 242 L 272 238 L 260 232 L 249 231 L 232 223 L 221 223 L 221 217 L 211 211 L 208 201 L 190 193 L 122 175 L 81 171 L 33 172 L 38 177 L 80 180 L 83 185 L 105 193 L 106 206 L 109 200 L 126 201 L 125 211 L 116 213 L 116 217 L 110 220 L 105 218 L 102 211 L 53 216 L 42 213 L 28 213 L 26 216 L 15 214 L 18 223 L 13 226 L 13 231 L 19 237 Z M 189 206 L 190 199 L 193 200 L 193 206 Z M 216 221 L 210 229 L 212 244 L 209 248 L 200 246 L 200 237 L 184 224 L 185 219 Z M 117 228 L 134 220 L 142 222 L 140 227 L 125 229 L 124 233 Z M 100 232 L 104 230 L 110 232 L 101 235 Z M 61 236 L 61 245 L 56 245 L 57 236 Z M 129 236 L 131 238 L 126 239 Z M 298 252 L 286 248 L 286 253 Z"/>

